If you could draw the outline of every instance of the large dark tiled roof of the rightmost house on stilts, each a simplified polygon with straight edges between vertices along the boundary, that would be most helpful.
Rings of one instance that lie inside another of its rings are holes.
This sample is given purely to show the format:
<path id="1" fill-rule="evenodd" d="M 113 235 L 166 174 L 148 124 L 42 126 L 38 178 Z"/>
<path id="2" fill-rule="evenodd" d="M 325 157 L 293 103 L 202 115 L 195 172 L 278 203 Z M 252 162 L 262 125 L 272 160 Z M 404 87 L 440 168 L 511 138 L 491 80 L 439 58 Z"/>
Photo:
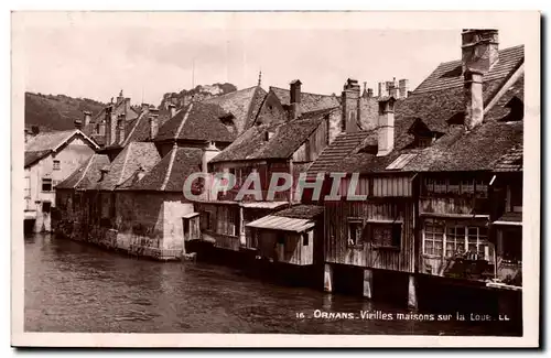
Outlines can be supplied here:
<path id="1" fill-rule="evenodd" d="M 522 46 L 514 52 L 522 50 Z M 505 51 L 505 50 L 504 50 Z M 507 51 L 506 51 L 507 53 Z M 523 53 L 523 51 L 520 51 Z M 504 86 L 511 74 L 522 63 L 523 57 L 512 59 L 505 57 L 501 62 L 503 68 L 509 68 L 509 73 L 494 67 L 491 76 L 486 77 L 483 84 L 484 105 Z M 456 62 L 461 64 L 461 62 Z M 504 65 L 507 64 L 507 66 Z M 442 65 L 441 65 L 442 66 Z M 504 67 L 505 66 L 505 67 Z M 499 67 L 499 68 L 501 68 Z M 441 69 L 434 73 L 440 73 Z M 434 73 L 431 75 L 434 77 Z M 430 77 L 431 77 L 430 76 Z M 434 79 L 434 78 L 433 78 Z M 447 78 L 450 80 L 450 78 Z M 317 172 L 417 172 L 417 171 L 478 171 L 490 170 L 493 163 L 507 150 L 521 143 L 522 122 L 500 122 L 501 116 L 508 112 L 505 109 L 507 97 L 517 96 L 522 98 L 522 76 L 512 86 L 511 90 L 498 100 L 485 116 L 484 123 L 472 131 L 465 131 L 463 126 L 454 124 L 456 119 L 464 118 L 464 94 L 463 82 L 456 86 L 434 79 L 439 86 L 428 85 L 415 90 L 403 100 L 395 105 L 395 150 L 385 156 L 377 156 L 377 129 L 371 131 L 359 131 L 356 133 L 344 133 L 338 135 L 334 142 L 325 148 L 318 159 L 309 169 L 309 174 Z M 426 80 L 425 80 L 426 82 Z M 429 82 L 430 84 L 431 82 Z M 501 108 L 495 108 L 501 107 Z M 413 124 L 422 122 L 429 130 L 443 134 L 433 145 L 426 149 L 415 149 L 413 144 Z M 495 142 L 495 144 L 494 144 Z M 404 155 L 402 154 L 412 154 Z"/>

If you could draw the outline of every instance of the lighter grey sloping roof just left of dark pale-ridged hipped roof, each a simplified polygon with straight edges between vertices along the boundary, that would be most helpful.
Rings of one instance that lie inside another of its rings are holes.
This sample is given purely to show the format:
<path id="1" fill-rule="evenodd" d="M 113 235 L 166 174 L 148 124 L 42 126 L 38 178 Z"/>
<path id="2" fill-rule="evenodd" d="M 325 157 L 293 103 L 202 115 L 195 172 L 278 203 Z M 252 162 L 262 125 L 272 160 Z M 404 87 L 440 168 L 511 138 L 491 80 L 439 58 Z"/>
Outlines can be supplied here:
<path id="1" fill-rule="evenodd" d="M 152 142 L 130 142 L 108 166 L 100 191 L 112 191 L 125 183 L 140 167 L 148 172 L 161 160 Z"/>

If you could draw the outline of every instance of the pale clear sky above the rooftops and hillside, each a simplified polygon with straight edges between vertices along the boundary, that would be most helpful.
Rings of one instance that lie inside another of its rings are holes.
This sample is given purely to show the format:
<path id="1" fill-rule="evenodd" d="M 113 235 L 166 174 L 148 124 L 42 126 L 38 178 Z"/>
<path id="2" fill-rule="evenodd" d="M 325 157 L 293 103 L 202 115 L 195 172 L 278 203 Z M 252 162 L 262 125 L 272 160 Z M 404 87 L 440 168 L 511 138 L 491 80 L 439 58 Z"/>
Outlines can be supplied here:
<path id="1" fill-rule="evenodd" d="M 25 25 L 18 40 L 28 91 L 108 101 L 122 89 L 133 104 L 153 105 L 192 84 L 251 87 L 260 70 L 264 89 L 299 78 L 303 91 L 339 94 L 349 77 L 375 91 L 378 82 L 408 78 L 414 89 L 439 63 L 461 58 L 461 28 L 253 29 L 67 17 Z M 522 39 L 499 29 L 499 42 L 505 48 Z"/>

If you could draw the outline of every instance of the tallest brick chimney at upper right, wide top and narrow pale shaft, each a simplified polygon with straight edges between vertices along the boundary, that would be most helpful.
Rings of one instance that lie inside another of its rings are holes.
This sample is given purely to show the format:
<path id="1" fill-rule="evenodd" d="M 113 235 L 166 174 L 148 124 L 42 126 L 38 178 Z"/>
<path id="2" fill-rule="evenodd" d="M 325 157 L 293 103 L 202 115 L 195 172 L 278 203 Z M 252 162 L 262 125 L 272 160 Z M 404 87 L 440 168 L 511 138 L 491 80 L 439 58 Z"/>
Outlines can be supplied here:
<path id="1" fill-rule="evenodd" d="M 463 30 L 462 67 L 465 95 L 465 127 L 472 130 L 484 120 L 483 82 L 499 59 L 497 30 Z"/>

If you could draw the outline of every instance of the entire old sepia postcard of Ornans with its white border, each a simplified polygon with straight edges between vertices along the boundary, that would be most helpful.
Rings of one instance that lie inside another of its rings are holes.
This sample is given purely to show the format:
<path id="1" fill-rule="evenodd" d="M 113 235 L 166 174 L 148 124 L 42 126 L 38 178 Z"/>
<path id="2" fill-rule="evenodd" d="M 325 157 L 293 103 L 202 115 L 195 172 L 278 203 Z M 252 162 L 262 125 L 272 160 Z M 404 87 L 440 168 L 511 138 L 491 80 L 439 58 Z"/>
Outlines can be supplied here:
<path id="1" fill-rule="evenodd" d="M 13 12 L 11 62 L 12 345 L 539 346 L 538 12 Z"/>

